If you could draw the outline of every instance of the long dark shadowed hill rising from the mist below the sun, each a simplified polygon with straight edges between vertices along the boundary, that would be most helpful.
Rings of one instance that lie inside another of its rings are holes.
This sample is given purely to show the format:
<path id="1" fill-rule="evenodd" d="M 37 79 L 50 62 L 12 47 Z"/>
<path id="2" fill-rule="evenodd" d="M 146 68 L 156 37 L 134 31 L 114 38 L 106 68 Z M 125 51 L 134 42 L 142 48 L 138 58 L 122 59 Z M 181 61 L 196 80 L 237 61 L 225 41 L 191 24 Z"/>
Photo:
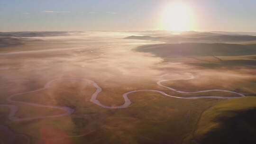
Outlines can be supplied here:
<path id="1" fill-rule="evenodd" d="M 152 53 L 158 57 L 184 56 L 238 56 L 256 54 L 256 45 L 237 44 L 160 44 L 143 45 L 135 49 L 137 52 Z"/>

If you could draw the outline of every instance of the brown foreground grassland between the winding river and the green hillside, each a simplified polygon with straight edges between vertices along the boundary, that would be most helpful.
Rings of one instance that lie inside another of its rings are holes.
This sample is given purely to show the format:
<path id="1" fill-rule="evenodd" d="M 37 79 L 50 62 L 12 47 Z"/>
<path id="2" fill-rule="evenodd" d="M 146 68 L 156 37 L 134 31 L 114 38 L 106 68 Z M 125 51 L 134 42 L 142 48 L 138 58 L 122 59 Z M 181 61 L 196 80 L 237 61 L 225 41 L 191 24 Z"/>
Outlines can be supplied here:
<path id="1" fill-rule="evenodd" d="M 70 141 L 74 144 L 179 144 L 192 133 L 201 113 L 220 101 L 166 98 L 154 92 L 138 92 L 131 94 L 129 98 L 133 101 L 130 108 L 113 110 L 84 104 L 77 105 L 76 112 L 70 117 L 9 125 L 17 133 L 30 135 L 32 142 L 36 144 L 45 138 L 48 142 Z M 55 131 L 54 135 L 47 137 L 43 134 L 51 130 Z"/>

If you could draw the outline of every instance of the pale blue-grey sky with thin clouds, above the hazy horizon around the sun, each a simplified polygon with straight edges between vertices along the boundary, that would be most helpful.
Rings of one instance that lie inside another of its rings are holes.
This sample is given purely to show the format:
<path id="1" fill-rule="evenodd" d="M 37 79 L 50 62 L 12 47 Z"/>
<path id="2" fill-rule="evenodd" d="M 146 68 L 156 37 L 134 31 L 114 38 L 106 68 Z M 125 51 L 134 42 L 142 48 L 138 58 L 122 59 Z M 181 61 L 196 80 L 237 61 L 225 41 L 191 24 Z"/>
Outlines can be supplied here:
<path id="1" fill-rule="evenodd" d="M 0 0 L 3 32 L 164 29 L 256 32 L 256 0 Z"/>

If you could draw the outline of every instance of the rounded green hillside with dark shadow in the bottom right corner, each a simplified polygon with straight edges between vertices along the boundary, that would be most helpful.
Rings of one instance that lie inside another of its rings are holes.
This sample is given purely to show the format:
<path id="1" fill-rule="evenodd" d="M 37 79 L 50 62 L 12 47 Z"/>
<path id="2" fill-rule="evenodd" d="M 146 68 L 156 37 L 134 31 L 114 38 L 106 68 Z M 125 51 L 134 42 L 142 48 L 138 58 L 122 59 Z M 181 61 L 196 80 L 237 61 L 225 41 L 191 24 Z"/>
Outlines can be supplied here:
<path id="1" fill-rule="evenodd" d="M 219 102 L 206 110 L 194 133 L 199 144 L 256 144 L 256 97 Z"/>

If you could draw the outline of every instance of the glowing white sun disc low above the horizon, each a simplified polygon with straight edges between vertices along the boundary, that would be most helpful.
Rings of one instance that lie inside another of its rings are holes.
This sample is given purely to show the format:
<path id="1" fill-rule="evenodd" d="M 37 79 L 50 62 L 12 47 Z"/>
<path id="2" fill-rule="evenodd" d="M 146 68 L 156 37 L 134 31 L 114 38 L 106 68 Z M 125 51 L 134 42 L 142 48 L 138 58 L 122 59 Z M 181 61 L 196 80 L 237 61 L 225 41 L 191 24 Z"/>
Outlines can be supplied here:
<path id="1" fill-rule="evenodd" d="M 191 10 L 183 3 L 171 3 L 163 12 L 162 28 L 172 31 L 190 30 L 192 27 Z"/>

